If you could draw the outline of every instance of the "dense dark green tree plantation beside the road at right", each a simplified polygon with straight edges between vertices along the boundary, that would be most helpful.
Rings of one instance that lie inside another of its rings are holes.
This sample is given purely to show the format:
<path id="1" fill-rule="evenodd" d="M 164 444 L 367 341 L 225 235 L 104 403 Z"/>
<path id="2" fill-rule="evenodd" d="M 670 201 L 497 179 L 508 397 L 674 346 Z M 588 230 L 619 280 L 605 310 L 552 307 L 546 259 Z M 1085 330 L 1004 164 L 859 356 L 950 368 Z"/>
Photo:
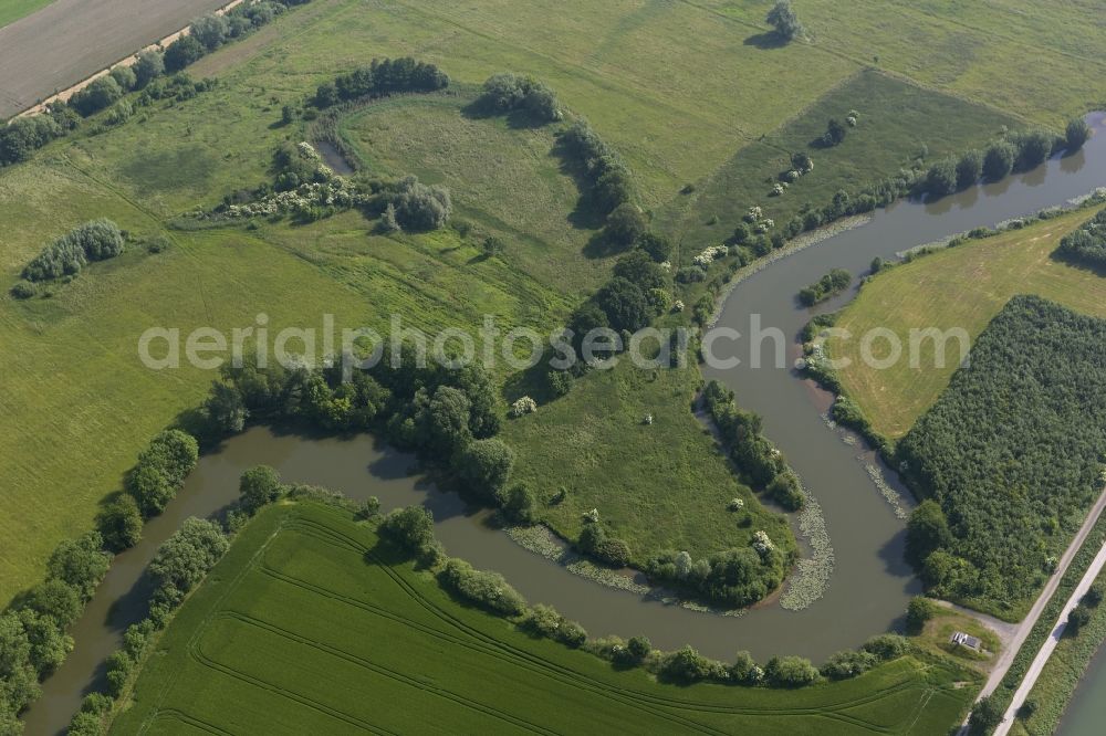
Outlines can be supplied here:
<path id="1" fill-rule="evenodd" d="M 1106 322 L 1015 297 L 899 442 L 932 502 L 915 512 L 926 524 L 911 518 L 907 549 L 936 595 L 1002 606 L 1043 582 L 1072 529 L 1057 532 L 1102 487 L 1106 366 L 1093 346 L 1104 341 Z"/>

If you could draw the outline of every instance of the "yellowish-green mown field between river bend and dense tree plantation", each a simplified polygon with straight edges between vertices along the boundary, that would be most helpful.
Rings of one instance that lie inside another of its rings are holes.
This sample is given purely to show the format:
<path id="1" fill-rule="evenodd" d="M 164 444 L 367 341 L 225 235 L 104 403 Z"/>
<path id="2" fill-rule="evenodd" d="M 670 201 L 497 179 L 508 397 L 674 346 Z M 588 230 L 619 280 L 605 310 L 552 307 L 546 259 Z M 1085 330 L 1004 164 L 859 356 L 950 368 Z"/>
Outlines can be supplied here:
<path id="1" fill-rule="evenodd" d="M 1018 294 L 1036 294 L 1104 317 L 1106 280 L 1048 257 L 1065 233 L 1093 214 L 1093 210 L 1072 212 L 897 265 L 866 283 L 836 326 L 854 336 L 886 327 L 904 346 L 909 345 L 911 329 L 929 327 L 961 327 L 974 340 Z M 949 345 L 954 353 L 956 344 Z M 876 370 L 859 359 L 859 346 L 858 337 L 827 340 L 834 358 L 852 360 L 837 371 L 845 392 L 860 404 L 877 432 L 897 440 L 933 406 L 958 365 L 950 359 L 943 368 L 933 367 L 935 345 L 927 340 L 917 353 L 920 367 L 900 360 Z M 876 357 L 881 355 L 878 347 Z"/>

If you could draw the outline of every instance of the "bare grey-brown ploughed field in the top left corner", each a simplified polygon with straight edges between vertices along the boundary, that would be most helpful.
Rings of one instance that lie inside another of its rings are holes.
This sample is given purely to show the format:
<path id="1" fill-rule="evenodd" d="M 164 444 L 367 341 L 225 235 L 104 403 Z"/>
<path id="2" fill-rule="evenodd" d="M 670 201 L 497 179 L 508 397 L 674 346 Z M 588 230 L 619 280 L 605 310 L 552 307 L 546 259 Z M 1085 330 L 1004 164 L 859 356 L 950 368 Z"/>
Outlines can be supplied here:
<path id="1" fill-rule="evenodd" d="M 8 118 L 226 0 L 56 0 L 0 28 L 0 118 Z"/>

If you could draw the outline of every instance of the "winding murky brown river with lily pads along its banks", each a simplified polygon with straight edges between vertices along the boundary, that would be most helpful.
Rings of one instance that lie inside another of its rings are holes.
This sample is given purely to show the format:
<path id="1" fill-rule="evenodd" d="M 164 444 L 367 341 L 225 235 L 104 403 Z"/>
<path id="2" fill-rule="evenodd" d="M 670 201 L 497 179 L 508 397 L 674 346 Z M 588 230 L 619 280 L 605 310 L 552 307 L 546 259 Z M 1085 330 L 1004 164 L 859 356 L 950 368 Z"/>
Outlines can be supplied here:
<path id="1" fill-rule="evenodd" d="M 410 456 L 377 446 L 371 438 L 309 440 L 255 428 L 202 456 L 178 497 L 146 525 L 142 543 L 116 557 L 73 627 L 76 648 L 43 683 L 42 697 L 25 715 L 27 733 L 53 735 L 64 729 L 83 695 L 100 684 L 104 658 L 118 646 L 126 627 L 143 616 L 147 591 L 142 574 L 158 545 L 184 518 L 209 516 L 233 501 L 241 472 L 259 463 L 273 465 L 289 482 L 326 486 L 354 498 L 376 495 L 385 509 L 426 504 L 434 511 L 438 537 L 451 555 L 479 568 L 499 570 L 532 603 L 555 606 L 592 635 L 644 633 L 656 646 L 691 644 L 723 660 L 743 649 L 761 660 L 802 654 L 821 661 L 886 631 L 918 590 L 901 561 L 904 525 L 857 460 L 860 451 L 825 427 L 820 414 L 826 397 L 800 381 L 789 367 L 799 355 L 795 336 L 810 318 L 794 296 L 832 267 L 860 274 L 876 255 L 891 257 L 912 245 L 1062 204 L 1106 186 L 1104 116 L 1096 114 L 1088 119 L 1097 135 L 1074 156 L 936 203 L 900 202 L 877 212 L 862 228 L 750 276 L 727 299 L 720 325 L 744 334 L 749 315 L 755 313 L 761 315 L 762 326 L 778 327 L 787 336 L 787 359 L 782 368 L 751 369 L 748 346 L 739 344 L 735 355 L 742 359 L 741 366 L 706 372 L 733 388 L 743 408 L 764 418 L 765 433 L 822 504 L 836 569 L 825 597 L 806 610 L 787 611 L 770 604 L 740 618 L 720 617 L 604 588 L 517 546 L 505 534 L 486 525 L 486 512 L 469 513 L 456 496 L 437 492 L 410 475 Z M 838 297 L 824 308 L 838 308 L 851 297 Z M 724 353 L 721 347 L 717 350 L 720 356 Z M 888 473 L 888 480 L 893 474 Z"/>

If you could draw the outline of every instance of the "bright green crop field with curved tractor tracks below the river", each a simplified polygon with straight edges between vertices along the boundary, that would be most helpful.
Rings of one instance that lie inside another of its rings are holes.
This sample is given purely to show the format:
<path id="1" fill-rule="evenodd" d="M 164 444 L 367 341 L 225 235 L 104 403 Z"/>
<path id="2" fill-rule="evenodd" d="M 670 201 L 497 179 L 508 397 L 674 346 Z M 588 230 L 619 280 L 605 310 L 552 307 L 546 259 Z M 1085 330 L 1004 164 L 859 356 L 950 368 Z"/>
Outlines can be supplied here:
<path id="1" fill-rule="evenodd" d="M 658 684 L 453 601 L 369 527 L 305 504 L 242 532 L 112 733 L 928 735 L 966 707 L 964 676 L 906 658 L 801 691 Z"/>

